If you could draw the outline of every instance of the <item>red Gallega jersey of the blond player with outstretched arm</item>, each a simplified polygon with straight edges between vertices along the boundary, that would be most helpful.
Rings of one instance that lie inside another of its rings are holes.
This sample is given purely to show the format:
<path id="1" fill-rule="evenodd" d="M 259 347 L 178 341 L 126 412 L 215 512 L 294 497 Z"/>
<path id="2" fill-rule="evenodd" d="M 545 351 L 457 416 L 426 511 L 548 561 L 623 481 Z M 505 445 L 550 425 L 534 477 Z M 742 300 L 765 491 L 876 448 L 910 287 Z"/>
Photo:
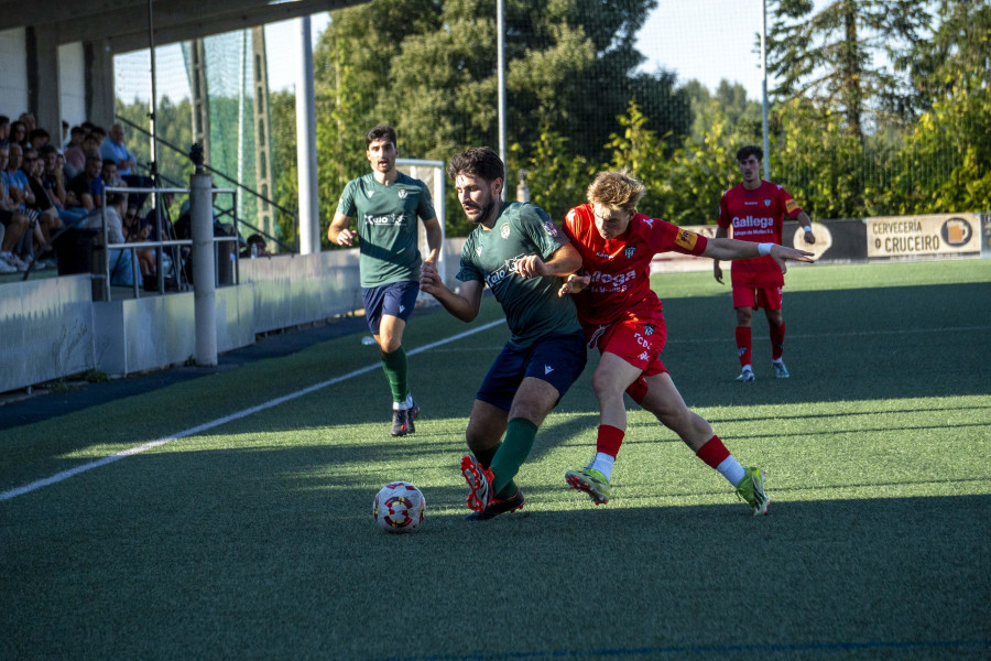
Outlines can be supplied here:
<path id="1" fill-rule="evenodd" d="M 658 252 L 701 254 L 708 239 L 657 218 L 633 214 L 630 227 L 614 239 L 596 229 L 592 205 L 568 212 L 564 232 L 581 253 L 581 266 L 591 278 L 574 296 L 582 326 L 603 326 L 618 321 L 657 319 L 661 300 L 651 290 L 651 260 Z"/>

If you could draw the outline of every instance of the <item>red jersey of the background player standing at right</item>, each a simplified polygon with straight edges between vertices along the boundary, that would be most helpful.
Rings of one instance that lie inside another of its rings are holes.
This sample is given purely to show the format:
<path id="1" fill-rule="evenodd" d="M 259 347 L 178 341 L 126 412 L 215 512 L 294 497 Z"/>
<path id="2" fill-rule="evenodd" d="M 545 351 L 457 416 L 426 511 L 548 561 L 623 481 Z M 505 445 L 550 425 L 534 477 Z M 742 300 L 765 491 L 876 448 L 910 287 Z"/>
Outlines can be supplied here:
<path id="1" fill-rule="evenodd" d="M 787 191 L 762 181 L 753 191 L 738 184 L 722 194 L 719 201 L 719 227 L 733 228 L 732 238 L 758 243 L 778 243 L 784 229 L 784 217 L 794 218 L 802 213 L 798 203 Z M 731 267 L 736 285 L 754 288 L 784 286 L 784 275 L 771 256 L 741 259 Z"/>

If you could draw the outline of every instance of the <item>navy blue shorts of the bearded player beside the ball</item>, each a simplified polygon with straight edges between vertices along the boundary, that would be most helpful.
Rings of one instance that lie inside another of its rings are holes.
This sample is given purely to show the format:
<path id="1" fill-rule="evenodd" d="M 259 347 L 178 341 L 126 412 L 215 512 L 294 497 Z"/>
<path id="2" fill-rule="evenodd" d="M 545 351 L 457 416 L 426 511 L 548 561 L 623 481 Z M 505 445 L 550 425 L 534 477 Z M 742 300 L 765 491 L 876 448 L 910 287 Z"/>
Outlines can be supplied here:
<path id="1" fill-rule="evenodd" d="M 581 330 L 549 335 L 525 348 L 507 344 L 489 368 L 476 398 L 509 411 L 520 383 L 526 377 L 534 377 L 554 386 L 559 399 L 581 376 L 587 360 Z"/>

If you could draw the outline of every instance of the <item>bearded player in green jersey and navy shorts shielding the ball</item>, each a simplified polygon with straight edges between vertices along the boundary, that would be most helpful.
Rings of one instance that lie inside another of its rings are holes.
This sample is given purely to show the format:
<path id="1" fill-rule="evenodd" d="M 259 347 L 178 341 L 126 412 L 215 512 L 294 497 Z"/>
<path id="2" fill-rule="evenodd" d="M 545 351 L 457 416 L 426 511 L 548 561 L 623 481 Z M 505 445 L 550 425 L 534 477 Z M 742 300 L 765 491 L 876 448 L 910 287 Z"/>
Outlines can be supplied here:
<path id="1" fill-rule="evenodd" d="M 587 360 L 575 306 L 557 295 L 581 257 L 543 209 L 502 201 L 504 173 L 502 160 L 487 147 L 450 160 L 447 175 L 477 227 L 461 250 L 458 292 L 444 284 L 433 263 L 425 263 L 420 277 L 421 289 L 462 322 L 478 316 L 488 286 L 510 327 L 510 339 L 476 395 L 466 432 L 475 455 L 461 459 L 468 507 L 475 510 L 471 521 L 523 507 L 513 478 L 537 427 Z"/>

